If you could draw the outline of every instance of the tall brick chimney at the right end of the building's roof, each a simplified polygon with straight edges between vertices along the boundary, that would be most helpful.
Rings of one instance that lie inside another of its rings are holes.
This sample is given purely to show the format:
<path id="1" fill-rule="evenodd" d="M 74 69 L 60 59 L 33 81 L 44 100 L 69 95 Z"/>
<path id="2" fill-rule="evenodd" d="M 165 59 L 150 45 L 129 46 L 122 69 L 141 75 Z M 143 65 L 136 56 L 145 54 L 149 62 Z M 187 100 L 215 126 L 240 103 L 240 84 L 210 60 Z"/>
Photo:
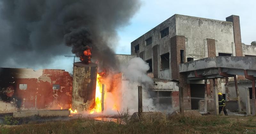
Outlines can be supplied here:
<path id="1" fill-rule="evenodd" d="M 231 15 L 231 16 L 227 17 L 226 20 L 233 22 L 236 56 L 243 56 L 239 16 Z"/>

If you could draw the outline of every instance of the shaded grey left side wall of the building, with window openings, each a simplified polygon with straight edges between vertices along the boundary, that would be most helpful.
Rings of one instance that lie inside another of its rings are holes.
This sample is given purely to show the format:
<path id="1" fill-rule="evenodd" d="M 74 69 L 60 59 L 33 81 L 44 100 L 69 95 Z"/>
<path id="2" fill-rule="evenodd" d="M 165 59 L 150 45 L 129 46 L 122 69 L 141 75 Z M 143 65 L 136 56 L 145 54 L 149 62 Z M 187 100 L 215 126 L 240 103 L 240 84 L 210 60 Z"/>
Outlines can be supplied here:
<path id="1" fill-rule="evenodd" d="M 152 59 L 152 69 L 153 69 L 154 78 L 171 79 L 172 77 L 171 71 L 165 71 L 161 69 L 160 56 L 168 52 L 171 55 L 170 38 L 176 35 L 175 25 L 176 25 L 175 15 L 173 15 L 169 19 L 165 20 L 163 23 L 159 24 L 155 28 L 151 29 L 147 33 L 140 36 L 135 41 L 131 42 L 132 55 L 137 55 L 134 53 L 134 46 L 139 44 L 140 51 L 138 53 L 140 53 L 139 54 L 140 57 L 143 57 L 144 61 Z M 167 27 L 169 27 L 169 35 L 166 35 L 165 37 L 161 38 L 160 31 L 164 30 Z M 152 44 L 147 46 L 145 40 L 148 39 L 149 37 L 152 37 Z M 156 45 L 157 47 L 154 47 Z M 153 51 L 154 51 L 154 55 L 153 55 Z M 171 64 L 171 56 L 169 56 L 169 62 Z M 170 69 L 166 69 L 166 70 L 170 70 Z M 166 74 L 166 72 L 169 72 L 169 74 Z"/>

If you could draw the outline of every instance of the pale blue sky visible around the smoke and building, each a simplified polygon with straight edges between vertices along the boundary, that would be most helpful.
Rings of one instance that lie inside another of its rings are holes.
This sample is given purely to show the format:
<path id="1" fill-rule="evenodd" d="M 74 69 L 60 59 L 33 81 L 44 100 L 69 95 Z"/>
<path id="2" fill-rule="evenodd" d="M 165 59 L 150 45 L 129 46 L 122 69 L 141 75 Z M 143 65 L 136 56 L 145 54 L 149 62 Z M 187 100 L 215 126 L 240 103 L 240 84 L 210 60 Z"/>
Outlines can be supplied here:
<path id="1" fill-rule="evenodd" d="M 255 0 L 141 0 L 141 3 L 139 11 L 130 20 L 129 25 L 117 29 L 119 40 L 115 50 L 117 54 L 130 54 L 132 41 L 174 14 L 223 21 L 226 21 L 226 17 L 230 15 L 238 15 L 242 42 L 250 44 L 256 40 Z M 70 51 L 67 55 L 73 54 Z M 53 63 L 42 68 L 64 69 L 72 73 L 73 58 L 57 56 L 55 59 Z"/>

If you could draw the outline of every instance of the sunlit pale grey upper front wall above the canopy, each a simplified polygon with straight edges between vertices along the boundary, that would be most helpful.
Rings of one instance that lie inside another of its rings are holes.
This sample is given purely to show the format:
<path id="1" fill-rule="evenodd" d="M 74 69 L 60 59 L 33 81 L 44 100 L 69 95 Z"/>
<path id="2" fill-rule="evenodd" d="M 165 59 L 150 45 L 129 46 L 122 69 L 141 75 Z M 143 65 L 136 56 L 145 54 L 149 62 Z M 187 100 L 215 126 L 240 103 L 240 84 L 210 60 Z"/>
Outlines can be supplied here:
<path id="1" fill-rule="evenodd" d="M 207 49 L 204 49 L 207 47 L 207 42 L 204 40 L 208 38 L 215 39 L 217 56 L 218 53 L 233 54 L 232 22 L 176 15 L 176 35 L 185 36 L 187 57 L 207 57 Z"/>

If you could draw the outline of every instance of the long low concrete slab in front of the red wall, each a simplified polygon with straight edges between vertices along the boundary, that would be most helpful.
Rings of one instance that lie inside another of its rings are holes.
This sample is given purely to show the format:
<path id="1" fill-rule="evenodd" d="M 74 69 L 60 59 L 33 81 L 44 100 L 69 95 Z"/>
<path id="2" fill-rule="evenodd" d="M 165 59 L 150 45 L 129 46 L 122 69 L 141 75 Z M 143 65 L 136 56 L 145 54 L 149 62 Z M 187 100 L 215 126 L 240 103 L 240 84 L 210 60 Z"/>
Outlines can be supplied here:
<path id="1" fill-rule="evenodd" d="M 14 118 L 21 118 L 21 117 L 29 117 L 29 116 L 69 116 L 70 111 L 68 109 L 65 110 L 39 110 L 39 111 L 28 111 L 28 110 L 21 110 L 17 112 L 13 112 Z"/>

